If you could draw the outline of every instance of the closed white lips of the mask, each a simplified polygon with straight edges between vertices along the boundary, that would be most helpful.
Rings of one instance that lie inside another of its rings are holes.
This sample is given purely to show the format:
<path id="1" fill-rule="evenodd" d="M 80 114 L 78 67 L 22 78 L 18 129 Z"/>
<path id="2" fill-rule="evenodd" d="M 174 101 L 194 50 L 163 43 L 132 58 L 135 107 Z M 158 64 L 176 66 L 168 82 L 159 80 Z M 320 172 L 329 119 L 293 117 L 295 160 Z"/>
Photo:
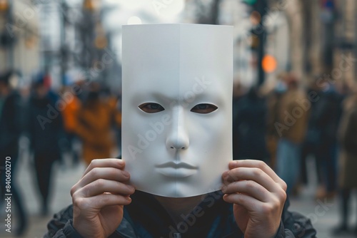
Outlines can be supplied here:
<path id="1" fill-rule="evenodd" d="M 196 174 L 198 167 L 186 162 L 170 161 L 156 165 L 156 171 L 166 177 L 183 178 Z"/>

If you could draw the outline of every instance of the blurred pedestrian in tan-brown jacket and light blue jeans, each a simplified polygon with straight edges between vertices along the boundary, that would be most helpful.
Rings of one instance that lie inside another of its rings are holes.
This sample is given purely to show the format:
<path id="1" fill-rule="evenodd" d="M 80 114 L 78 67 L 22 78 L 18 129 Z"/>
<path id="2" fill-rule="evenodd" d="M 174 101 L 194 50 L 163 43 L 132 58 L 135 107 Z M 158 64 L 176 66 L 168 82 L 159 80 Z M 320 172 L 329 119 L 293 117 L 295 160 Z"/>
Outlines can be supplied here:
<path id="1" fill-rule="evenodd" d="M 303 105 L 306 93 L 299 88 L 298 79 L 292 73 L 283 76 L 286 92 L 281 95 L 278 120 L 274 123 L 280 136 L 276 152 L 276 172 L 288 185 L 291 195 L 300 172 L 301 143 L 305 137 L 308 108 Z"/>

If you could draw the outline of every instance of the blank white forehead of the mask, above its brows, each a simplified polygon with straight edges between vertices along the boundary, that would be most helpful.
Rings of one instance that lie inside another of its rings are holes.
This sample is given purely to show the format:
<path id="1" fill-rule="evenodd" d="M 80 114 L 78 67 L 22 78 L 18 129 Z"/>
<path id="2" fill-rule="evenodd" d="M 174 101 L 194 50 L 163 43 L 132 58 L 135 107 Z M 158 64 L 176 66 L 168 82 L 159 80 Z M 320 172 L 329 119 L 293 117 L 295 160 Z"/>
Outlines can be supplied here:
<path id="1" fill-rule="evenodd" d="M 192 92 L 231 100 L 231 39 L 231 26 L 124 26 L 123 89 L 129 96 L 162 93 L 176 100 Z"/>

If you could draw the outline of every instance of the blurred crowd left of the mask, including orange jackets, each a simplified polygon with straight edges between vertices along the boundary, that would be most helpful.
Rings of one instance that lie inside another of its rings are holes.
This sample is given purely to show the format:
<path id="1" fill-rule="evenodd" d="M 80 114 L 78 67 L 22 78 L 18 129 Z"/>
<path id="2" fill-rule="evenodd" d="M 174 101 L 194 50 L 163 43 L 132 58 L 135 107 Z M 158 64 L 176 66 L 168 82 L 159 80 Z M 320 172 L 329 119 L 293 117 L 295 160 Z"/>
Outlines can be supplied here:
<path id="1" fill-rule="evenodd" d="M 22 137 L 28 138 L 25 150 L 29 150 L 34 165 L 31 170 L 36 175 L 40 212 L 44 216 L 49 214 L 54 190 L 54 165 L 68 164 L 64 157 L 66 160 L 70 157 L 71 166 L 75 166 L 81 160 L 89 164 L 96 158 L 118 156 L 121 138 L 120 96 L 109 88 L 84 79 L 54 91 L 47 73 L 32 76 L 31 86 L 21 90 L 16 87 L 19 81 L 18 71 L 0 75 L 0 161 L 4 168 L 5 157 L 11 157 L 11 192 L 17 213 L 14 216 L 19 222 L 17 235 L 24 234 L 28 223 L 24 197 L 14 180 L 16 165 L 24 153 L 24 147 L 19 147 Z M 5 175 L 1 172 L 3 198 Z"/>

